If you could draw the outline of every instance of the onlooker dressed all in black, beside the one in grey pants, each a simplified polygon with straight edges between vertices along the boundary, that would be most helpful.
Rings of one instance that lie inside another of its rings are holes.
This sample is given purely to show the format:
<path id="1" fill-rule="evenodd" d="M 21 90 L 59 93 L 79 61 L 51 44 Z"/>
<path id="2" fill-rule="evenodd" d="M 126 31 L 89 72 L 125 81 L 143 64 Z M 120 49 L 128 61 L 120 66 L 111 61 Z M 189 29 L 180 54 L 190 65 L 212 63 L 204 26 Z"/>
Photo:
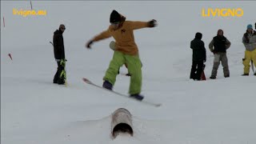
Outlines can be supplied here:
<path id="1" fill-rule="evenodd" d="M 203 62 L 206 62 L 205 43 L 202 42 L 202 34 L 195 34 L 195 38 L 190 42 L 190 48 L 193 50 L 193 62 L 190 71 L 190 79 L 201 80 Z"/>

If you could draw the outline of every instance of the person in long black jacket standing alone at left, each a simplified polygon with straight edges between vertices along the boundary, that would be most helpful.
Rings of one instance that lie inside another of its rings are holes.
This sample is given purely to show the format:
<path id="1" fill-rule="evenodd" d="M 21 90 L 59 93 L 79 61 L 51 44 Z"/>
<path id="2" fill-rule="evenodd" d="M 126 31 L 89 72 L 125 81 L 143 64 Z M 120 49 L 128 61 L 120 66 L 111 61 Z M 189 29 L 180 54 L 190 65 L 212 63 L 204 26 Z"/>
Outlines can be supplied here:
<path id="1" fill-rule="evenodd" d="M 54 75 L 54 83 L 58 83 L 59 85 L 65 84 L 66 81 L 66 58 L 65 58 L 65 50 L 64 50 L 64 41 L 63 41 L 63 32 L 66 30 L 66 27 L 61 24 L 58 30 L 54 32 L 54 58 L 58 64 L 58 69 L 56 74 Z"/>

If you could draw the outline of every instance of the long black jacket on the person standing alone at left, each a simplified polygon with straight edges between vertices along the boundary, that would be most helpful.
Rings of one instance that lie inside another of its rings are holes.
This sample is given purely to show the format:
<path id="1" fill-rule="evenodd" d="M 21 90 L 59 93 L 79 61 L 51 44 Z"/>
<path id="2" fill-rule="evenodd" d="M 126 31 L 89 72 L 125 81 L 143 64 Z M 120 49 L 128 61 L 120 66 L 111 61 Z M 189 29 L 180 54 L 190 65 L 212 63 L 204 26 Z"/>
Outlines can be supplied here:
<path id="1" fill-rule="evenodd" d="M 64 42 L 61 30 L 54 32 L 54 58 L 56 60 L 65 58 Z"/>

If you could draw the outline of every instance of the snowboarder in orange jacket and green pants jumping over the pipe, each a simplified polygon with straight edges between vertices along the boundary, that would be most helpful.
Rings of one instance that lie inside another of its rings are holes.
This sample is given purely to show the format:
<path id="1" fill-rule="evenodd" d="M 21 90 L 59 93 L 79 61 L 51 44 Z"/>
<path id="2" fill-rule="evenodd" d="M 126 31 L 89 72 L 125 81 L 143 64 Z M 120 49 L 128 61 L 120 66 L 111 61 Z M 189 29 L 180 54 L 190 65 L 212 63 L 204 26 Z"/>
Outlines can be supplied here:
<path id="1" fill-rule="evenodd" d="M 149 22 L 126 21 L 126 18 L 118 14 L 116 10 L 112 11 L 108 29 L 86 43 L 86 47 L 90 49 L 94 42 L 110 38 L 111 36 L 115 39 L 114 56 L 103 78 L 102 86 L 104 88 L 112 90 L 119 68 L 126 63 L 130 74 L 130 97 L 137 98 L 138 100 L 144 98 L 140 94 L 142 90 L 142 64 L 138 57 L 138 46 L 134 42 L 134 30 L 154 27 L 156 25 L 157 23 L 154 19 Z"/>

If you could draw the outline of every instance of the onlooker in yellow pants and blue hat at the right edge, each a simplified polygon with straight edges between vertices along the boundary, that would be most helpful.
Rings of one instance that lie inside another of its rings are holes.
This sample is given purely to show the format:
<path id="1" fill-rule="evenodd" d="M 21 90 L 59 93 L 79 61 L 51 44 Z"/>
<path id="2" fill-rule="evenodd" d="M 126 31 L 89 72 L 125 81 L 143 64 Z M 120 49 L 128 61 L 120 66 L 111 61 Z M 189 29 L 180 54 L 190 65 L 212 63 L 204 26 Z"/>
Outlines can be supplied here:
<path id="1" fill-rule="evenodd" d="M 242 58 L 242 64 L 244 65 L 242 76 L 247 76 L 250 73 L 250 61 L 253 61 L 256 67 L 256 31 L 253 30 L 251 24 L 247 26 L 246 33 L 243 34 L 242 43 L 246 47 L 245 58 Z M 256 75 L 256 72 L 254 75 Z"/>

